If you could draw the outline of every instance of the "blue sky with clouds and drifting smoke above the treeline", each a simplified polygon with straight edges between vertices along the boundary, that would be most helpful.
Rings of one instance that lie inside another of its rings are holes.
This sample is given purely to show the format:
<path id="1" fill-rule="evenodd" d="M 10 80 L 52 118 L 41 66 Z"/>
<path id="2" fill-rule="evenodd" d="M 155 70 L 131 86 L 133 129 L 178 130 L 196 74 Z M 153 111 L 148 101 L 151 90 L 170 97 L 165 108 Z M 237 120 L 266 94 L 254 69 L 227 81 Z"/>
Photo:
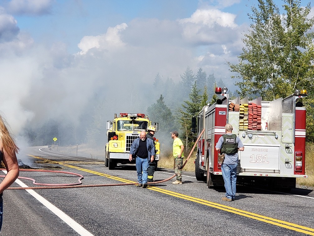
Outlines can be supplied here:
<path id="1" fill-rule="evenodd" d="M 187 66 L 194 73 L 202 67 L 232 87 L 226 61 L 236 63 L 242 52 L 253 4 L 257 1 L 1 0 L 0 82 L 6 89 L 0 111 L 16 132 L 28 121 L 59 116 L 75 123 L 101 90 L 112 115 L 116 107 L 129 106 L 125 96 L 116 96 L 117 85 L 153 83 L 157 73 L 178 82 Z M 139 95 L 129 86 L 119 92 Z"/>

